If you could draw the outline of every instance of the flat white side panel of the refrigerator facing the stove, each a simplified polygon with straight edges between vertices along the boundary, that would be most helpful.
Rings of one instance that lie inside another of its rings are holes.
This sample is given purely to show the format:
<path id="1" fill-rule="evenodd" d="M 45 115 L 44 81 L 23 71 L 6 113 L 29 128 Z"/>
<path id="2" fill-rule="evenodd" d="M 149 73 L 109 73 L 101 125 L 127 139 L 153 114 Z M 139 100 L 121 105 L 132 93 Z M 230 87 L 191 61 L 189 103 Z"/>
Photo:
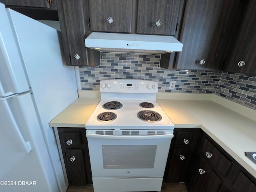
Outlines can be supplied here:
<path id="1" fill-rule="evenodd" d="M 8 10 L 31 87 L 32 101 L 61 191 L 66 191 L 54 130 L 49 122 L 78 98 L 74 67 L 66 66 L 60 32 Z"/>

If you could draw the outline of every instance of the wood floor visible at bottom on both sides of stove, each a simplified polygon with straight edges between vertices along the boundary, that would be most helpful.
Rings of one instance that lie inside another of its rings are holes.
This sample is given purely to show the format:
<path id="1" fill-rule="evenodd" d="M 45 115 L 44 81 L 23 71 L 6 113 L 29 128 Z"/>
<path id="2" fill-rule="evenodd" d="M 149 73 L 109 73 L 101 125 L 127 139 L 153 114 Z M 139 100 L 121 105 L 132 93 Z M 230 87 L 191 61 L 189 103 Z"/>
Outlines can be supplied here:
<path id="1" fill-rule="evenodd" d="M 91 186 L 69 186 L 67 192 L 93 192 Z M 187 192 L 184 183 L 165 183 L 162 184 L 161 192 Z"/>

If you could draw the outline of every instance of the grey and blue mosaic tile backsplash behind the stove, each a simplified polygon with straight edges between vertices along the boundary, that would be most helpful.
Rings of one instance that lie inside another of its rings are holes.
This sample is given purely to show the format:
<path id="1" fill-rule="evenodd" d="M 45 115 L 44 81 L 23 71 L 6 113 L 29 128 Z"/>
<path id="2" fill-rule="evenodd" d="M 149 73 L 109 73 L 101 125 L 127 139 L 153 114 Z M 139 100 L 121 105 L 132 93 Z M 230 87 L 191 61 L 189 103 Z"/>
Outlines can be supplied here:
<path id="1" fill-rule="evenodd" d="M 158 82 L 158 92 L 217 94 L 256 110 L 256 76 L 212 70 L 166 70 L 160 55 L 100 53 L 100 66 L 80 67 L 83 90 L 100 90 L 100 80 L 134 78 Z M 176 81 L 169 90 L 170 81 Z"/>

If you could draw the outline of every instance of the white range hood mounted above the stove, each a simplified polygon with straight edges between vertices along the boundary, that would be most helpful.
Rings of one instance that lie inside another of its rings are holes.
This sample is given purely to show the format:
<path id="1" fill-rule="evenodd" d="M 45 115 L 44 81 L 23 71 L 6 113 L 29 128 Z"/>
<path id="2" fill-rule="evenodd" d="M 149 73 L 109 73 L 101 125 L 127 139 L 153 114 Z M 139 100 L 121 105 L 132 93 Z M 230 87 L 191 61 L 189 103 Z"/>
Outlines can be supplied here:
<path id="1" fill-rule="evenodd" d="M 182 51 L 173 36 L 92 32 L 85 46 L 102 52 L 163 54 Z"/>

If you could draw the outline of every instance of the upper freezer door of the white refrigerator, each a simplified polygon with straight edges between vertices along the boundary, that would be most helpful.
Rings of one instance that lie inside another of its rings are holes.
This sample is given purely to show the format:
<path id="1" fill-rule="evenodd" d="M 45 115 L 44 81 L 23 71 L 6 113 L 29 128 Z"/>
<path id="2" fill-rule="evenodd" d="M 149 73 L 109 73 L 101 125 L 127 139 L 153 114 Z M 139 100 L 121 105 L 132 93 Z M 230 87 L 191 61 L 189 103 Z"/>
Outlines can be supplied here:
<path id="1" fill-rule="evenodd" d="M 0 3 L 0 97 L 29 90 L 4 4 Z"/>

